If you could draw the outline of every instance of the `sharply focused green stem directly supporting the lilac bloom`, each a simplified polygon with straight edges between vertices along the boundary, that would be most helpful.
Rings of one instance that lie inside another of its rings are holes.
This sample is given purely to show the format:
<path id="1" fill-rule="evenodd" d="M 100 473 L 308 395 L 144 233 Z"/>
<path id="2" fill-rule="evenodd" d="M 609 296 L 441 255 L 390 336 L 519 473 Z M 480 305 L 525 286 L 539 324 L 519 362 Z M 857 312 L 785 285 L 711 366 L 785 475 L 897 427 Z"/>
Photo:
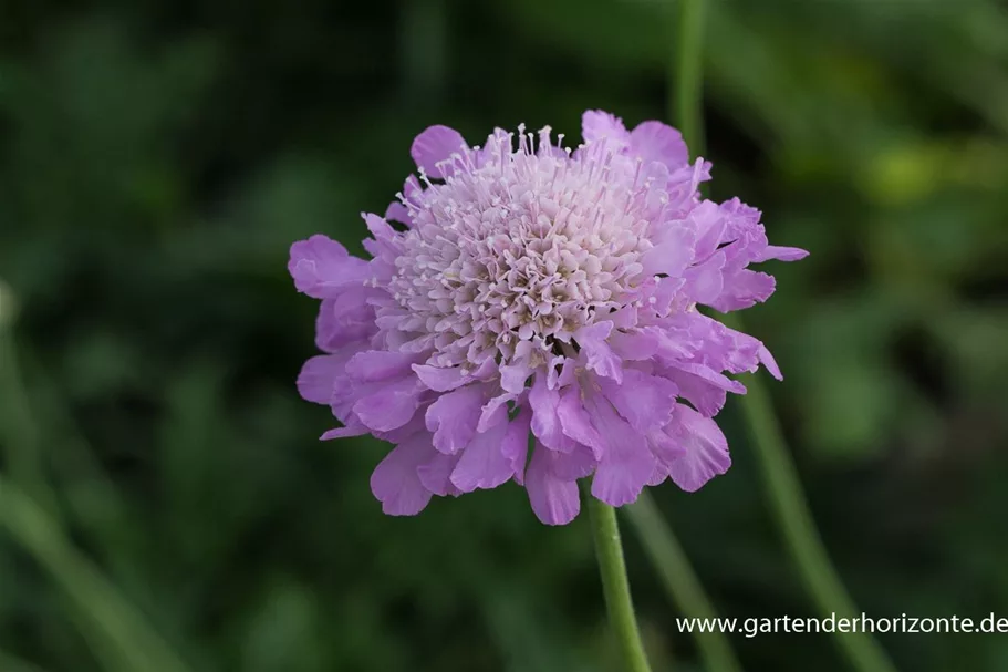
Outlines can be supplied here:
<path id="1" fill-rule="evenodd" d="M 623 562 L 616 511 L 592 496 L 586 499 L 592 534 L 595 538 L 595 556 L 599 558 L 599 571 L 602 575 L 602 589 L 605 593 L 605 608 L 609 611 L 610 627 L 620 644 L 623 665 L 626 672 L 651 672 L 630 597 L 630 581 L 626 579 L 626 565 Z"/>

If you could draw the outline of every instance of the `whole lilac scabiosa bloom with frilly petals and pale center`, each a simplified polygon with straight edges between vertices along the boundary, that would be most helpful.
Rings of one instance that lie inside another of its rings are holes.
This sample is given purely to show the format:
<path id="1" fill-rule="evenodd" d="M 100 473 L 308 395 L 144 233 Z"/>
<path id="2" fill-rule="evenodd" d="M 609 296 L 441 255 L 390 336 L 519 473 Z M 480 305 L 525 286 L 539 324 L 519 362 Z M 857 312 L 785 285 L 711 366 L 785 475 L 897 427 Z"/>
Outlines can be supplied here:
<path id="1" fill-rule="evenodd" d="M 387 514 L 508 480 L 552 525 L 578 515 L 585 476 L 613 506 L 666 478 L 696 490 L 730 465 L 711 417 L 745 387 L 726 372 L 780 379 L 697 306 L 763 301 L 773 278 L 749 263 L 807 252 L 768 245 L 738 199 L 700 198 L 710 164 L 665 124 L 586 112 L 573 152 L 518 131 L 482 147 L 420 133 L 419 179 L 364 215 L 370 260 L 325 236 L 291 248 L 325 352 L 299 390 L 344 425 L 322 438 L 395 444 L 371 477 Z"/>

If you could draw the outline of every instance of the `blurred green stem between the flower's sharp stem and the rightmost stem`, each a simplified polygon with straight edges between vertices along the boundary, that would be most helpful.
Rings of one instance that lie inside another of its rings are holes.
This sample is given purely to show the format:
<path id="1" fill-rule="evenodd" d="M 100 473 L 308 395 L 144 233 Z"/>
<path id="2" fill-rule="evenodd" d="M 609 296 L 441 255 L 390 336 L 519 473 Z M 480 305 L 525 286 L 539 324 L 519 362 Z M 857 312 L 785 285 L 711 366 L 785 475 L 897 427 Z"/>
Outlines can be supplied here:
<path id="1" fill-rule="evenodd" d="M 717 612 L 693 571 L 686 551 L 663 519 L 651 495 L 642 493 L 635 504 L 623 510 L 636 528 L 644 550 L 679 611 L 688 618 L 708 622 L 716 619 Z M 742 668 L 724 632 L 714 629 L 710 632 L 694 632 L 693 637 L 708 672 L 741 672 Z"/>

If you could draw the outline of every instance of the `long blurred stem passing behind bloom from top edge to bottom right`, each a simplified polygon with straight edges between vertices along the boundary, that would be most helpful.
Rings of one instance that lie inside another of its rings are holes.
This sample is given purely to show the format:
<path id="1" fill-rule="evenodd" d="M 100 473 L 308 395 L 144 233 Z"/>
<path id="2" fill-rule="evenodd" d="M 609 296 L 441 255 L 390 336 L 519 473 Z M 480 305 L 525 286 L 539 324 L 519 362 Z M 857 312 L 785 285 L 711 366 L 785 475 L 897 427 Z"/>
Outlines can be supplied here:
<path id="1" fill-rule="evenodd" d="M 683 137 L 696 155 L 703 145 L 700 125 L 700 80 L 704 41 L 704 0 L 678 0 L 678 31 L 675 66 L 672 69 L 675 99 L 672 112 Z M 744 331 L 737 316 L 725 316 L 729 328 Z M 794 463 L 784 444 L 780 424 L 762 381 L 746 381 L 741 397 L 742 416 L 759 456 L 760 469 L 773 516 L 798 566 L 807 590 L 823 618 L 833 613 L 854 618 L 860 612 L 851 600 L 822 545 L 806 500 Z M 860 672 L 893 672 L 885 651 L 863 632 L 836 633 L 839 647 Z"/>

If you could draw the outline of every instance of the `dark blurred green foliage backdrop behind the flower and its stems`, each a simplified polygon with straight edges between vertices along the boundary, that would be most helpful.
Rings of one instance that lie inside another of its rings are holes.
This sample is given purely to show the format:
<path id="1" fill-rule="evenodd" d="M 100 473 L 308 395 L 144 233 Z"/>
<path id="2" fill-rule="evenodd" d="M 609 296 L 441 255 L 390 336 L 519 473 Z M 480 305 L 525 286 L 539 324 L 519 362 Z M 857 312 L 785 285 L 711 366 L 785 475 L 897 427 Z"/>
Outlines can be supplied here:
<path id="1" fill-rule="evenodd" d="M 0 2 L 0 671 L 614 670 L 583 516 L 543 527 L 508 485 L 387 518 L 384 448 L 316 441 L 284 267 L 312 232 L 360 251 L 429 124 L 667 118 L 671 4 Z M 708 10 L 713 196 L 812 251 L 746 317 L 825 545 L 871 616 L 1008 616 L 1008 12 Z M 734 468 L 656 497 L 721 614 L 811 616 L 720 421 Z M 656 672 L 699 670 L 625 536 Z M 880 639 L 904 671 L 1008 670 L 1004 634 Z M 825 634 L 732 642 L 848 669 Z"/>

